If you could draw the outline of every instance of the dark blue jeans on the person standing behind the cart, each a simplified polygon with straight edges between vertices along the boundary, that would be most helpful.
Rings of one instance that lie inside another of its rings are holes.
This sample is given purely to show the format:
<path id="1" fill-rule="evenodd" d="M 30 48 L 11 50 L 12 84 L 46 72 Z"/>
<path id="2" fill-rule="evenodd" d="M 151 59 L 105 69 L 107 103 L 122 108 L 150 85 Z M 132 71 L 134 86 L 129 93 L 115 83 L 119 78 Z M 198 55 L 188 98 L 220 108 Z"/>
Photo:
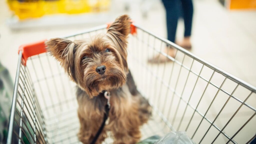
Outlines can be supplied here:
<path id="1" fill-rule="evenodd" d="M 162 0 L 166 9 L 167 36 L 168 40 L 175 42 L 176 29 L 179 16 L 183 15 L 185 33 L 184 37 L 191 35 L 193 18 L 192 0 Z"/>

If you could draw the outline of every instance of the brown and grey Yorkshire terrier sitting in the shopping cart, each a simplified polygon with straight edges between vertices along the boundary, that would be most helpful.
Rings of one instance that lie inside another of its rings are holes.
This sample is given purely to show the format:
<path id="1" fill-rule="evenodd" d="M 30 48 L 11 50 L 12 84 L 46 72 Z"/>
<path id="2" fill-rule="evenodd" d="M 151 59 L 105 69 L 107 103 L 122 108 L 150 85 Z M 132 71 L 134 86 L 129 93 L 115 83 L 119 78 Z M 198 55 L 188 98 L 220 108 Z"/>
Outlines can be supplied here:
<path id="1" fill-rule="evenodd" d="M 119 16 L 107 33 L 90 42 L 53 38 L 46 41 L 50 52 L 77 84 L 78 138 L 91 143 L 99 130 L 105 113 L 109 91 L 109 123 L 105 125 L 96 143 L 102 143 L 111 131 L 115 144 L 132 144 L 141 138 L 140 126 L 151 116 L 151 106 L 138 92 L 127 65 L 127 38 L 131 19 Z"/>

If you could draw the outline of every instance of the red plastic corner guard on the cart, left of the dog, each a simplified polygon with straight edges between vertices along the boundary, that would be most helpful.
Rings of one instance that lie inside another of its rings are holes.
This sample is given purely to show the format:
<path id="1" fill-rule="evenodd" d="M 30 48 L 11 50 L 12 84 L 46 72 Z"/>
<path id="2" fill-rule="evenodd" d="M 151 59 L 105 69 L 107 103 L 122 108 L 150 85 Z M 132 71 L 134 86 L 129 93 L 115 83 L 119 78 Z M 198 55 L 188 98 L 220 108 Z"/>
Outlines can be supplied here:
<path id="1" fill-rule="evenodd" d="M 46 39 L 35 43 L 21 45 L 19 47 L 18 53 L 22 51 L 22 64 L 24 66 L 26 66 L 29 57 L 46 52 L 45 41 Z"/>

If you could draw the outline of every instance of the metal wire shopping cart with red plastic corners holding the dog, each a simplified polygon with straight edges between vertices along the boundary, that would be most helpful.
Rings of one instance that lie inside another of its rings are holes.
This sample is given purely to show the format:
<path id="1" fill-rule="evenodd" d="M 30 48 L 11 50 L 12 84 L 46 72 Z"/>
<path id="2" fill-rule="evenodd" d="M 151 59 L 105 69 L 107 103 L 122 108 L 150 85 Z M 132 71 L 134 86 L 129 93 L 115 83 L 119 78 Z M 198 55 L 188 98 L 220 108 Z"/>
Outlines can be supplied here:
<path id="1" fill-rule="evenodd" d="M 88 38 L 106 29 L 102 25 L 65 38 Z M 249 143 L 256 137 L 255 87 L 140 26 L 132 29 L 129 68 L 153 107 L 142 139 L 170 131 L 186 131 L 195 143 Z M 177 49 L 175 57 L 162 52 L 166 46 Z M 157 54 L 168 60 L 148 64 Z M 79 143 L 74 86 L 45 53 L 44 41 L 21 46 L 7 143 Z M 113 143 L 108 135 L 104 142 Z"/>

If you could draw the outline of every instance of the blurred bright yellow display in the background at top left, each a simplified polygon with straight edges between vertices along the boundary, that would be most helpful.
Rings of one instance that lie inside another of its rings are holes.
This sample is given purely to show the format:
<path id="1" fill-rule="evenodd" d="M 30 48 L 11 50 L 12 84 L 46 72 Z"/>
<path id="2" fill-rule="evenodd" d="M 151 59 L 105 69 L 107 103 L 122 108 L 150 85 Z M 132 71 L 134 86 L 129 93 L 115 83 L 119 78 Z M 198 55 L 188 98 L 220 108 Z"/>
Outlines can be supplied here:
<path id="1" fill-rule="evenodd" d="M 7 0 L 7 3 L 19 20 L 51 14 L 106 12 L 110 7 L 110 0 Z"/>

